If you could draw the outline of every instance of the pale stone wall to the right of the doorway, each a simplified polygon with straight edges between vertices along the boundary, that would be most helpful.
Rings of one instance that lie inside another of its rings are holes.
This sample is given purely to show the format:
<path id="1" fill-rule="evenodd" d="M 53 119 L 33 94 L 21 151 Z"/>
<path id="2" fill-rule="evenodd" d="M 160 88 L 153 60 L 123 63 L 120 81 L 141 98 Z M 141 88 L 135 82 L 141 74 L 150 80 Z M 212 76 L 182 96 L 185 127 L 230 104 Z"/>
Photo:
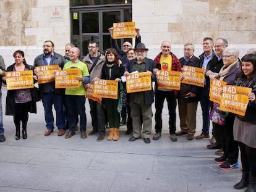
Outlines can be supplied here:
<path id="1" fill-rule="evenodd" d="M 142 41 L 150 48 L 149 57 L 160 52 L 163 40 L 171 41 L 179 57 L 185 43 L 194 43 L 198 56 L 205 36 L 226 38 L 241 56 L 256 48 L 255 0 L 137 0 L 132 2 L 132 13 Z"/>

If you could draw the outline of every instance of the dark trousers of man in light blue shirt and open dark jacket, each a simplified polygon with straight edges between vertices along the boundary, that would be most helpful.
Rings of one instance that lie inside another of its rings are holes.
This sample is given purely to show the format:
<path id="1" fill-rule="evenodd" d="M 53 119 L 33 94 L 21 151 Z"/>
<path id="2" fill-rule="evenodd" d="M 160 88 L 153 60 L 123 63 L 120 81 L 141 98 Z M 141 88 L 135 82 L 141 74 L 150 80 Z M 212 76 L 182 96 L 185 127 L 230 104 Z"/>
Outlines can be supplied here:
<path id="1" fill-rule="evenodd" d="M 210 113 L 210 100 L 209 100 L 209 94 L 208 94 L 208 88 L 204 87 L 202 89 L 202 93 L 200 94 L 200 104 L 202 108 L 202 115 L 203 115 L 203 133 L 209 133 L 209 127 L 210 127 L 210 119 L 209 119 L 209 113 Z"/>

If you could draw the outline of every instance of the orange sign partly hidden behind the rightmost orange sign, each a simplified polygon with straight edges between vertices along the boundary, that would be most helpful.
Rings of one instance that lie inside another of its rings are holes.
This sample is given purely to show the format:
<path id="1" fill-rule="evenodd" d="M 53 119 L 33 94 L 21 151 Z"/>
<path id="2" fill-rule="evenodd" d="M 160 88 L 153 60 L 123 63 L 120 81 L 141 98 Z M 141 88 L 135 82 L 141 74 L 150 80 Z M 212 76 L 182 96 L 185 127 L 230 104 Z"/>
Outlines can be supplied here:
<path id="1" fill-rule="evenodd" d="M 210 84 L 210 101 L 220 104 L 221 102 L 221 93 L 223 86 L 226 85 L 225 81 L 211 79 Z"/>

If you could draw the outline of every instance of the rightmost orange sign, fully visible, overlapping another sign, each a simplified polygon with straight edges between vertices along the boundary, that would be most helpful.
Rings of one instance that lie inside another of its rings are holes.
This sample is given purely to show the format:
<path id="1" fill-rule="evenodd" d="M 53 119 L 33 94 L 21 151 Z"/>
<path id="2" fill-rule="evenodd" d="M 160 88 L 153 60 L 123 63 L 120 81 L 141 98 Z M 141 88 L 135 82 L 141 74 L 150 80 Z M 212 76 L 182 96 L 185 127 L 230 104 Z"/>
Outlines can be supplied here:
<path id="1" fill-rule="evenodd" d="M 224 85 L 221 95 L 220 110 L 244 116 L 252 88 Z"/>

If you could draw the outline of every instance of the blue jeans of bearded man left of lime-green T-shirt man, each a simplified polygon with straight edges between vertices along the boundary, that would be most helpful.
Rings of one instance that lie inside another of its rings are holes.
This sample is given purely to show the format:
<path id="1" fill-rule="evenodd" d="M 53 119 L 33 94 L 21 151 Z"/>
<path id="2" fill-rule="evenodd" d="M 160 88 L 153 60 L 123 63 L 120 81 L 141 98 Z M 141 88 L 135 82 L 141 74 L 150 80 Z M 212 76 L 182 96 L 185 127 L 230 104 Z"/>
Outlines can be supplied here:
<path id="1" fill-rule="evenodd" d="M 43 93 L 43 107 L 45 109 L 46 128 L 54 129 L 53 106 L 56 111 L 56 125 L 58 129 L 65 128 L 65 115 L 63 111 L 64 95 L 55 94 L 54 92 Z"/>

